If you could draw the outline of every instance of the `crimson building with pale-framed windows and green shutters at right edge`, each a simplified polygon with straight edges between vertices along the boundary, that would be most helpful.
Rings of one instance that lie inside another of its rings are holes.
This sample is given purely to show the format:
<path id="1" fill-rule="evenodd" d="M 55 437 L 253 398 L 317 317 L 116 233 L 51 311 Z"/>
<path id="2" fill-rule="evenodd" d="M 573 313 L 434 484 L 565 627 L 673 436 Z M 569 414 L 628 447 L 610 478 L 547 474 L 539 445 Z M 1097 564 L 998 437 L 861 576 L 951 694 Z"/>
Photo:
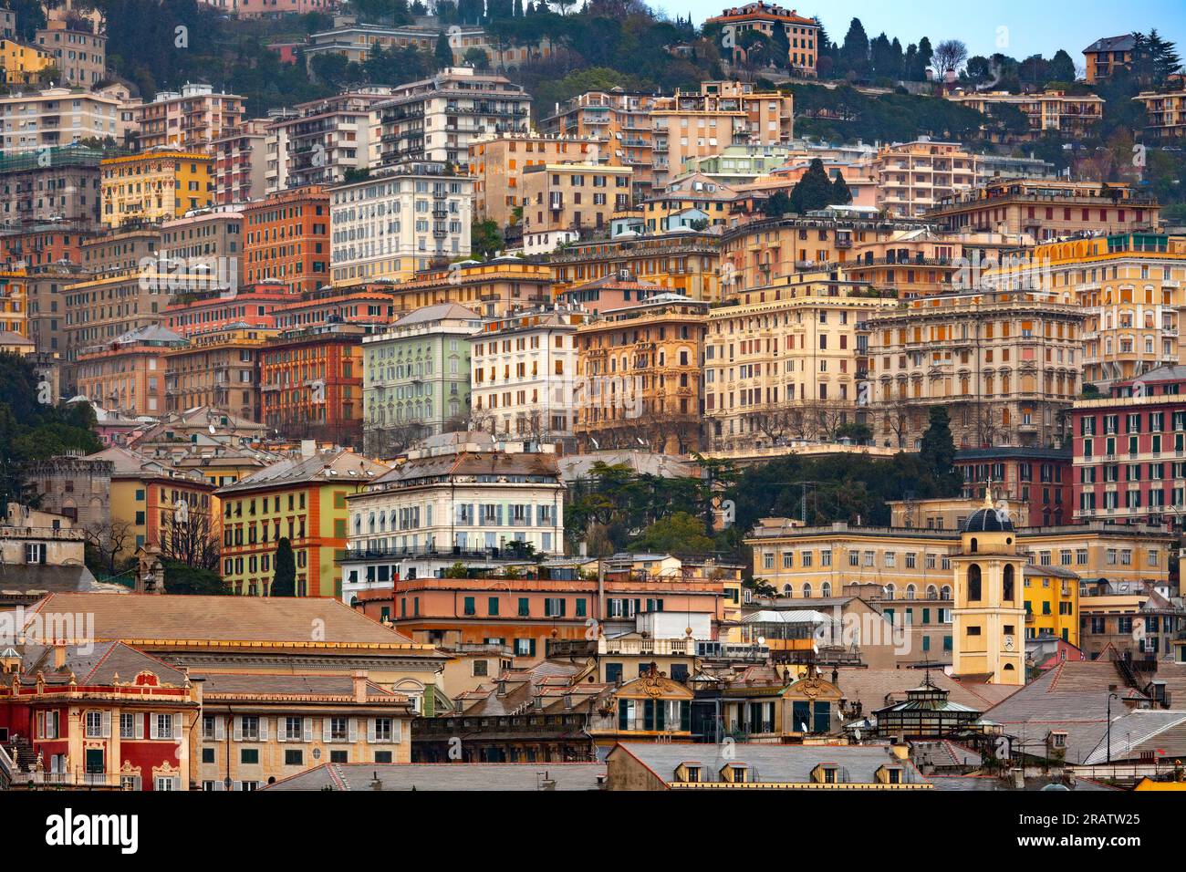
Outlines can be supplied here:
<path id="1" fill-rule="evenodd" d="M 1110 396 L 1079 400 L 1075 520 L 1181 527 L 1186 505 L 1186 367 L 1114 382 Z"/>

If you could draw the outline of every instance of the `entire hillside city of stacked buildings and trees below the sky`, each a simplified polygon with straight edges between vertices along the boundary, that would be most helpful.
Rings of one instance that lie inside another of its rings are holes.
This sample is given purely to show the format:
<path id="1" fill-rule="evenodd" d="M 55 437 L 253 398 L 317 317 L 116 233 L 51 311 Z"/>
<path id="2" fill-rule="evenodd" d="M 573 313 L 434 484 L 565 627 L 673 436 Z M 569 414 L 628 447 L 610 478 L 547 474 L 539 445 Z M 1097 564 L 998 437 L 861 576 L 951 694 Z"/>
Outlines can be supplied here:
<path id="1" fill-rule="evenodd" d="M 1186 790 L 1134 12 L 0 0 L 0 790 Z"/>

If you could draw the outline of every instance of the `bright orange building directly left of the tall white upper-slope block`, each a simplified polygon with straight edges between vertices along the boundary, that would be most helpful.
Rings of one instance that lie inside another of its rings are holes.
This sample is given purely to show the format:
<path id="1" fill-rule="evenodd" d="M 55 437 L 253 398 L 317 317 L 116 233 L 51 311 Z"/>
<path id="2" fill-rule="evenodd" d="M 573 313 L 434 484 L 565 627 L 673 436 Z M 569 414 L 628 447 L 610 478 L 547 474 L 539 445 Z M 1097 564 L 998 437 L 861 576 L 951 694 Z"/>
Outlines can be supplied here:
<path id="1" fill-rule="evenodd" d="M 289 291 L 330 281 L 330 195 L 298 187 L 243 206 L 244 281 L 279 279 Z"/>

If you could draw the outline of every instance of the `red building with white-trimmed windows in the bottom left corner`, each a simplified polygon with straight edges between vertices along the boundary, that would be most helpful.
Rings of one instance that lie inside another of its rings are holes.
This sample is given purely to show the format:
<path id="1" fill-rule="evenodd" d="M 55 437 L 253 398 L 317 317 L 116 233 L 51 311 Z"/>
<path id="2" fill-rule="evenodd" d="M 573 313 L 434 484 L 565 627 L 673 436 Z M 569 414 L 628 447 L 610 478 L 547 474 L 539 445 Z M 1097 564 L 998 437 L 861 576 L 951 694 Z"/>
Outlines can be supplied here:
<path id="1" fill-rule="evenodd" d="M 85 620 L 27 616 L 26 634 L 44 624 L 38 636 L 49 631 L 50 642 L 63 622 Z M 85 628 L 69 635 L 82 638 Z M 0 655 L 2 787 L 189 789 L 200 701 L 183 670 L 122 642 L 19 648 Z"/>

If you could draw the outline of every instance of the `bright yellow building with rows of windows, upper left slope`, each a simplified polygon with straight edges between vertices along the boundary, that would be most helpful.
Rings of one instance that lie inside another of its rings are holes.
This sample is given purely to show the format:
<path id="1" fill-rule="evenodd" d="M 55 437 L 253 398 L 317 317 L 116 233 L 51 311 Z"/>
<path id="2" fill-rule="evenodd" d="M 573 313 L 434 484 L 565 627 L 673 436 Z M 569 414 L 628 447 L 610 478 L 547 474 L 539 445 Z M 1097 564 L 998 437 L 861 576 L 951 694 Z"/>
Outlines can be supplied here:
<path id="1" fill-rule="evenodd" d="M 213 158 L 204 152 L 157 148 L 100 164 L 104 225 L 158 223 L 213 203 Z"/>

